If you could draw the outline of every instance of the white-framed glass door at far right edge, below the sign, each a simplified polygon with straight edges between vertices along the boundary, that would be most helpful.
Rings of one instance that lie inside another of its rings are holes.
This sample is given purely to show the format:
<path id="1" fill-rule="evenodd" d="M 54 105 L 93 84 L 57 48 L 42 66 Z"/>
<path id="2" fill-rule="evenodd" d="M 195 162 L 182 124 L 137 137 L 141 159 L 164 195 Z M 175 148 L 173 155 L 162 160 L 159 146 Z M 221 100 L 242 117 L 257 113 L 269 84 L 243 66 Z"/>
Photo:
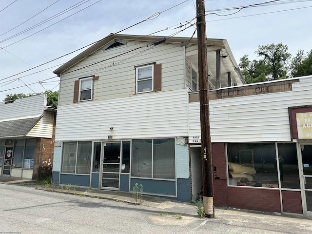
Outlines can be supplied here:
<path id="1" fill-rule="evenodd" d="M 303 166 L 304 213 L 312 216 L 312 145 L 301 144 Z"/>

